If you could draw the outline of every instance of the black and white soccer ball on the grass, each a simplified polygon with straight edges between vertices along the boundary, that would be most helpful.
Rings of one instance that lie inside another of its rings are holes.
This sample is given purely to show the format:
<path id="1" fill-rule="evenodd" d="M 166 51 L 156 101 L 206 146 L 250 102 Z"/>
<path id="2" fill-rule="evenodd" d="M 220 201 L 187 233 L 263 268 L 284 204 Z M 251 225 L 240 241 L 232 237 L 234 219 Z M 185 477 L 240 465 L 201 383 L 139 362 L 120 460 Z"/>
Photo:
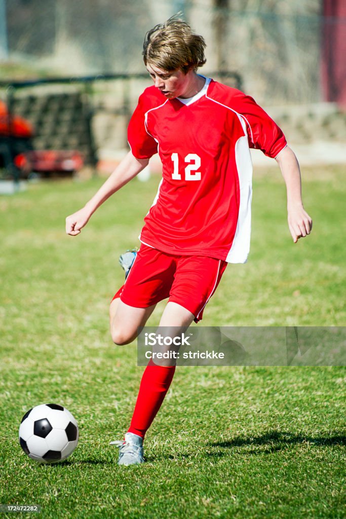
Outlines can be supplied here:
<path id="1" fill-rule="evenodd" d="M 77 421 L 62 405 L 37 405 L 22 418 L 19 443 L 31 459 L 42 463 L 62 461 L 77 446 Z"/>

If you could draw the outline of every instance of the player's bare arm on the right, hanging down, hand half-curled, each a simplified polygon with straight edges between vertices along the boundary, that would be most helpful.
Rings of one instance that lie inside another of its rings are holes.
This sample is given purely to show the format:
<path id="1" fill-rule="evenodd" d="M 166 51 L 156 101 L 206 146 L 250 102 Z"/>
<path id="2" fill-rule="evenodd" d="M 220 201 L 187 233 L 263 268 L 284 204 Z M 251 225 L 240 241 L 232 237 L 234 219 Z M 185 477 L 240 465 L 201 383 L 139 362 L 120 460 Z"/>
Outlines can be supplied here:
<path id="1" fill-rule="evenodd" d="M 275 157 L 278 162 L 282 176 L 284 177 L 287 190 L 287 220 L 290 234 L 294 243 L 299 238 L 310 234 L 312 220 L 303 208 L 301 200 L 301 180 L 297 157 L 292 149 L 286 146 Z"/>

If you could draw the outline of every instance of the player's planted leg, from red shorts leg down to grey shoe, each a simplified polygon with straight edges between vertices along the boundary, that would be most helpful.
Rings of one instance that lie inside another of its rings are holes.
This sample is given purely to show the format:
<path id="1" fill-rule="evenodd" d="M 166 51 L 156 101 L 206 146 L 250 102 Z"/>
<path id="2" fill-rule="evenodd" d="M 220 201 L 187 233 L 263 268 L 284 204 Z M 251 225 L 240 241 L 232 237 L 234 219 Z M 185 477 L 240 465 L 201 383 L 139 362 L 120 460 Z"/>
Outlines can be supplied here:
<path id="1" fill-rule="evenodd" d="M 166 337 L 183 333 L 193 320 L 197 322 L 202 318 L 203 309 L 226 268 L 226 262 L 205 257 L 183 258 L 180 264 L 179 276 L 174 276 L 170 290 L 170 299 L 175 301 L 168 302 L 160 320 L 160 326 L 164 327 L 160 334 Z M 185 304 L 189 310 L 183 306 Z M 144 461 L 144 435 L 173 379 L 175 365 L 170 365 L 170 362 L 172 364 L 170 360 L 160 361 L 158 365 L 150 361 L 143 373 L 129 432 L 120 447 L 119 465 Z"/>

